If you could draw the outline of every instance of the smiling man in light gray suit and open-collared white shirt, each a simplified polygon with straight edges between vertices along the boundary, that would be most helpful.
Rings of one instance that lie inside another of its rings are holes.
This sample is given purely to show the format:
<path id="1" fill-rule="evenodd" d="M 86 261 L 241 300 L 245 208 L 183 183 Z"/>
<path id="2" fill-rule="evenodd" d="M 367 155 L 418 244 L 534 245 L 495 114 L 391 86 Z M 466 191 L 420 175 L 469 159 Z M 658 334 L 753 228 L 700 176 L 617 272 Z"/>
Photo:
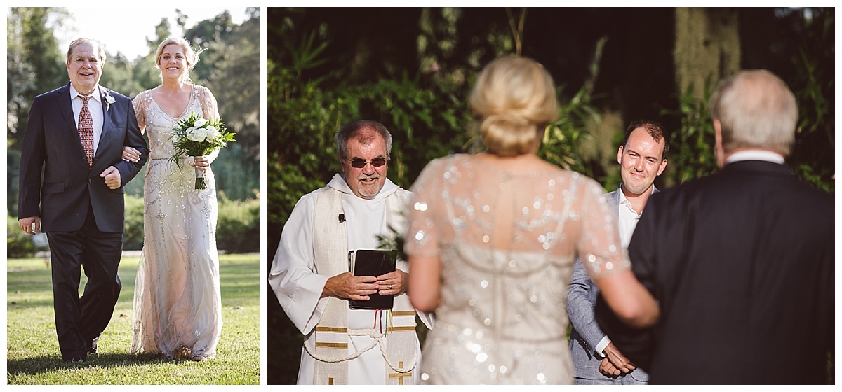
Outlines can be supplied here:
<path id="1" fill-rule="evenodd" d="M 667 166 L 668 151 L 669 145 L 659 123 L 632 122 L 626 128 L 626 139 L 617 149 L 622 182 L 616 191 L 605 194 L 616 213 L 624 247 L 632 239 L 649 196 L 658 191 L 653 182 Z M 570 353 L 575 384 L 647 384 L 648 375 L 629 361 L 597 325 L 594 305 L 598 294 L 599 289 L 585 272 L 582 260 L 577 259 L 567 301 L 568 317 L 573 326 Z"/>

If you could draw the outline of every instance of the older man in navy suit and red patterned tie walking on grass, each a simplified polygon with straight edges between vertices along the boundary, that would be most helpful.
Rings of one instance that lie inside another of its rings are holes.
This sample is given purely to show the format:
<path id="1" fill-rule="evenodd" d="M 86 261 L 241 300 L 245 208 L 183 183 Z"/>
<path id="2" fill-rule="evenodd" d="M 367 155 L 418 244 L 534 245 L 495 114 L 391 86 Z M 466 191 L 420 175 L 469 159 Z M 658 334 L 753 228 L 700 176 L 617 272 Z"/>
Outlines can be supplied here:
<path id="1" fill-rule="evenodd" d="M 47 233 L 56 333 L 67 362 L 98 353 L 99 336 L 114 313 L 123 186 L 148 152 L 131 99 L 99 86 L 104 62 L 99 43 L 70 44 L 70 83 L 35 97 L 20 157 L 18 222 L 24 233 Z M 141 159 L 120 159 L 124 146 L 141 151 Z M 88 284 L 79 298 L 81 269 Z"/>

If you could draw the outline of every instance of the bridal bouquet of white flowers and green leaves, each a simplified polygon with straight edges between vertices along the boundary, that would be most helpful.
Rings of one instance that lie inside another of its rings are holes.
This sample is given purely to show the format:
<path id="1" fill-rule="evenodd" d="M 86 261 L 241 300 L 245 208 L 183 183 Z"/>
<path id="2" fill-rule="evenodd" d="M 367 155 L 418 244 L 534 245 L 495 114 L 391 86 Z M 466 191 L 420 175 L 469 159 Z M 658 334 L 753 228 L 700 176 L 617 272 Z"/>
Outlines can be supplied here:
<path id="1" fill-rule="evenodd" d="M 216 149 L 226 147 L 228 142 L 234 141 L 234 133 L 226 132 L 225 123 L 219 118 L 205 120 L 200 114 L 191 112 L 189 118 L 175 123 L 173 128 L 173 147 L 175 154 L 169 159 L 170 163 L 180 166 L 179 159 L 185 156 L 205 156 Z M 205 172 L 196 168 L 195 189 L 205 189 Z"/>

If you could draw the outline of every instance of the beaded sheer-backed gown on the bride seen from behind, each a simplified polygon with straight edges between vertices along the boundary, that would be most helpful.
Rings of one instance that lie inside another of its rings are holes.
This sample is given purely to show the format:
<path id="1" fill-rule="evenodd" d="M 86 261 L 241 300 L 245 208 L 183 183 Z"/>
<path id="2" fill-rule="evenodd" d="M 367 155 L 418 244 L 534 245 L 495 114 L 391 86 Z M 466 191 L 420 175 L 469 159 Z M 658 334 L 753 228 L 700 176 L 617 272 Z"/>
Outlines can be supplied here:
<path id="1" fill-rule="evenodd" d="M 573 384 L 573 261 L 580 254 L 594 277 L 628 269 L 616 218 L 584 175 L 482 158 L 435 159 L 413 186 L 406 253 L 441 262 L 422 382 Z"/>

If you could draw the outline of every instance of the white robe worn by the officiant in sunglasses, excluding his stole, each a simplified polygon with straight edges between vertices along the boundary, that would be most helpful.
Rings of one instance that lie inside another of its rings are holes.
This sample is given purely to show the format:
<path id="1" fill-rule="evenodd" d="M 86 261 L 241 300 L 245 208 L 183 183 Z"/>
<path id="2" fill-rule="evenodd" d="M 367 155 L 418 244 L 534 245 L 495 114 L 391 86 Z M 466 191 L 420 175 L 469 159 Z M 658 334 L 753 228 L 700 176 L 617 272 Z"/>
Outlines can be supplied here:
<path id="1" fill-rule="evenodd" d="M 386 179 L 381 191 L 372 199 L 362 199 L 350 190 L 342 175 L 334 175 L 328 187 L 342 192 L 342 206 L 347 226 L 348 249 L 376 249 L 380 247 L 378 235 L 392 235 L 386 227 L 386 197 L 395 192 L 409 192 L 391 180 Z M 317 274 L 313 248 L 313 217 L 318 192 L 312 191 L 301 197 L 290 213 L 284 231 L 280 236 L 278 251 L 272 260 L 269 285 L 284 308 L 290 321 L 307 338 L 305 344 L 313 347 L 313 328 L 322 317 L 328 298 L 322 298 L 322 289 L 330 276 Z M 336 217 L 338 219 L 339 217 Z M 394 222 L 395 219 L 391 219 Z M 398 233 L 402 233 L 399 231 Z M 406 261 L 398 260 L 397 269 L 409 272 Z M 417 312 L 427 327 L 432 327 L 431 315 Z M 349 329 L 370 329 L 376 318 L 376 311 L 353 310 L 347 313 Z M 418 384 L 418 368 L 421 363 L 421 347 L 415 337 L 418 364 L 412 372 L 413 384 Z M 356 353 L 372 341 L 371 337 L 349 337 L 348 352 Z M 298 370 L 298 384 L 313 384 L 316 359 L 301 349 L 301 367 Z M 371 348 L 358 358 L 349 360 L 349 384 L 386 384 L 385 361 L 380 348 Z"/>

